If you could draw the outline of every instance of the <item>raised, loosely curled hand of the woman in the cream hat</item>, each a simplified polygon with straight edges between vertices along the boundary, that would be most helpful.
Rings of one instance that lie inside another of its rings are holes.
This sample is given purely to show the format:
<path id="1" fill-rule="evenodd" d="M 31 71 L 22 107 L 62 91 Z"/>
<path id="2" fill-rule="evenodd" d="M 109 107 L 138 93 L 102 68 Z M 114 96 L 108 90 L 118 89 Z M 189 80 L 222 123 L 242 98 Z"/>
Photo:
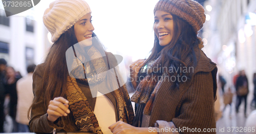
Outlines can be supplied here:
<path id="1" fill-rule="evenodd" d="M 50 122 L 54 122 L 61 116 L 67 116 L 70 113 L 68 103 L 69 101 L 63 97 L 51 100 L 47 110 L 47 119 Z"/>

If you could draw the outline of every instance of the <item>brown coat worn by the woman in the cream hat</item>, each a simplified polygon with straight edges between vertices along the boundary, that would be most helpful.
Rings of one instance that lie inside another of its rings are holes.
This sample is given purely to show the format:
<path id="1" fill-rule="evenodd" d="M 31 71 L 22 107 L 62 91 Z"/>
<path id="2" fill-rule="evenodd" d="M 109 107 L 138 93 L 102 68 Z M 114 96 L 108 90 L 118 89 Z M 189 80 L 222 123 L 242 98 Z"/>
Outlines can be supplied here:
<path id="1" fill-rule="evenodd" d="M 111 53 L 109 55 L 111 58 L 114 58 L 113 54 Z M 51 133 L 53 131 L 53 128 L 56 128 L 56 131 L 62 131 L 62 132 L 76 132 L 79 131 L 77 126 L 74 122 L 74 117 L 72 113 L 68 114 L 67 117 L 61 117 L 58 118 L 54 123 L 50 123 L 47 119 L 47 109 L 45 109 L 45 102 L 44 102 L 44 96 L 45 92 L 42 91 L 42 76 L 44 75 L 44 63 L 37 65 L 34 73 L 33 73 L 33 93 L 34 93 L 34 99 L 37 97 L 40 97 L 39 101 L 34 102 L 34 105 L 31 109 L 31 120 L 29 122 L 30 130 L 31 132 L 38 132 L 38 133 Z M 82 84 L 77 83 L 79 88 L 82 90 L 84 95 L 86 95 L 92 109 L 94 109 L 96 98 L 92 98 L 91 91 L 89 86 L 85 86 Z M 122 91 L 123 94 L 126 94 L 127 91 Z M 41 93 L 41 94 L 40 94 Z M 118 121 L 118 115 L 117 115 L 117 102 L 114 95 L 111 93 L 105 94 L 113 103 L 116 113 L 116 121 Z M 125 97 L 125 96 L 124 96 Z M 129 103 L 126 103 L 127 105 L 132 105 L 130 98 L 127 98 L 129 100 Z M 131 107 L 132 108 L 132 107 Z M 104 111 L 102 111 L 104 112 Z M 129 111 L 129 116 L 133 117 L 134 113 L 131 109 Z"/>

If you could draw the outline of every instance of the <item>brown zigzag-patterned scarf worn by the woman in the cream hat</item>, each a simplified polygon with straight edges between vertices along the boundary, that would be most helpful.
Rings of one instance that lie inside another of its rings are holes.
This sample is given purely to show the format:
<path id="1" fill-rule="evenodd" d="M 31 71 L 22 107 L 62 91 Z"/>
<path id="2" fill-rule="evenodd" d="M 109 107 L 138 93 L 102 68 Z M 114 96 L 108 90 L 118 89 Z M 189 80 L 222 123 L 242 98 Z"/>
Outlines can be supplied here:
<path id="1" fill-rule="evenodd" d="M 87 72 L 84 66 L 79 67 L 77 64 L 72 64 L 74 68 L 68 76 L 66 96 L 69 101 L 69 108 L 74 116 L 75 124 L 80 131 L 91 131 L 93 133 L 102 133 L 101 127 L 97 121 L 97 118 L 81 89 L 78 87 L 75 77 L 81 77 L 80 75 L 89 74 L 87 78 L 79 78 L 80 81 L 85 83 L 98 84 L 102 81 L 106 81 L 106 64 L 99 53 L 99 51 L 94 47 L 90 47 L 88 50 L 88 55 L 92 60 L 92 66 L 90 67 L 91 72 Z M 94 59 L 94 60 L 93 60 Z M 76 61 L 77 62 L 77 59 Z M 109 65 L 109 64 L 108 64 Z M 109 65 L 112 67 L 113 65 Z M 83 73 L 81 73 L 81 71 Z M 90 78 L 88 78 L 90 77 Z M 127 93 L 126 87 L 119 87 L 119 89 L 113 92 L 113 95 L 117 101 L 118 109 L 118 119 L 126 122 L 132 123 L 134 118 L 133 109 L 131 102 L 129 103 L 129 94 Z"/>

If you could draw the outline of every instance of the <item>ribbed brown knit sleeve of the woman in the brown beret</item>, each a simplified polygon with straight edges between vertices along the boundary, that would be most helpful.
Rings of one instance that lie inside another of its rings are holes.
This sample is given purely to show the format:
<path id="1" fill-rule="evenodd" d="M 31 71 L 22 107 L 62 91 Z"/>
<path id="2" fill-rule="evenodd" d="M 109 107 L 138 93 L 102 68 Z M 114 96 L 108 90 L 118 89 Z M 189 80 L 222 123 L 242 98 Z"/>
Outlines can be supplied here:
<path id="1" fill-rule="evenodd" d="M 191 86 L 182 96 L 179 114 L 172 119 L 176 128 L 182 128 L 181 133 L 195 133 L 192 132 L 195 129 L 216 133 L 214 87 L 211 72 L 198 72 L 194 75 Z"/>

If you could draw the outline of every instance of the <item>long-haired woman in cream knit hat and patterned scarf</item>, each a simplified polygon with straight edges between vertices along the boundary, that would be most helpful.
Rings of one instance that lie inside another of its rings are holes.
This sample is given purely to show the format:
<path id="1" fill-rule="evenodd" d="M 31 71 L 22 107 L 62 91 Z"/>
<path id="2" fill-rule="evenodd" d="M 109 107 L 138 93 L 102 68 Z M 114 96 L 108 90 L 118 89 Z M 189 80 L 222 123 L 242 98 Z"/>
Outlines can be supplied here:
<path id="1" fill-rule="evenodd" d="M 93 33 L 91 18 L 84 0 L 56 0 L 46 9 L 43 20 L 54 43 L 33 73 L 32 132 L 100 134 L 112 133 L 108 127 L 119 120 L 132 124 L 117 60 Z"/>

